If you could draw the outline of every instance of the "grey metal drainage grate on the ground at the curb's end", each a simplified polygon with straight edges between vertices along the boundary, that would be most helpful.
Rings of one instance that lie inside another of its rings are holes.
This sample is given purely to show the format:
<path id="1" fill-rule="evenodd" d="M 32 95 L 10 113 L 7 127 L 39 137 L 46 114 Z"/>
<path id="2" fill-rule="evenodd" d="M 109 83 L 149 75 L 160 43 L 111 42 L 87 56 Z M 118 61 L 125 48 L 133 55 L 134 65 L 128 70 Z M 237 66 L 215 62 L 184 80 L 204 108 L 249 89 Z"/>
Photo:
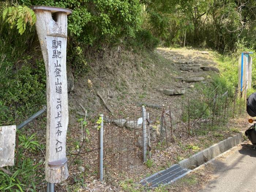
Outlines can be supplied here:
<path id="1" fill-rule="evenodd" d="M 191 172 L 191 169 L 187 169 L 181 167 L 178 164 L 174 164 L 166 170 L 162 170 L 147 178 L 144 178 L 140 181 L 140 183 L 144 186 L 147 185 L 150 188 L 158 187 L 159 185 L 167 185 L 185 176 L 189 172 Z"/>

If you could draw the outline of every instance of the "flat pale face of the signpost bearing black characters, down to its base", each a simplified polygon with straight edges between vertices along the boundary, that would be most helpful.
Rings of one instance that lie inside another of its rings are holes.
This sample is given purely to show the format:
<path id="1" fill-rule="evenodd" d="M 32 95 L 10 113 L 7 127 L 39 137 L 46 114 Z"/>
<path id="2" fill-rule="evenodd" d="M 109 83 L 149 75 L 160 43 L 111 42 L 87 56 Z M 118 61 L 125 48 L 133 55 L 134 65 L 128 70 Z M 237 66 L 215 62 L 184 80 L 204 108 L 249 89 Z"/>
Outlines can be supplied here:
<path id="1" fill-rule="evenodd" d="M 50 129 L 46 155 L 48 165 L 46 180 L 60 182 L 68 177 L 66 158 L 66 134 L 68 127 L 68 95 L 66 74 L 65 37 L 46 35 L 49 72 Z M 59 177 L 59 178 L 58 178 Z M 61 178 L 62 177 L 62 178 Z"/>

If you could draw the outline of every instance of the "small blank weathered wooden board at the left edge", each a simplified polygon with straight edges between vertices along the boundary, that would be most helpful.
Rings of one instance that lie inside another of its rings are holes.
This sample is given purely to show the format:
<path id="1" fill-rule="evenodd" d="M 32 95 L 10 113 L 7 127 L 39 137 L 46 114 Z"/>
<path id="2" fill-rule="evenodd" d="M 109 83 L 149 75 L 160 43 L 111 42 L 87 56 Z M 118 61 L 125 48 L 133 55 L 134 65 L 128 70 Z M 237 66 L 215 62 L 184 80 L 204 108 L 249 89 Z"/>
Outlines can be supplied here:
<path id="1" fill-rule="evenodd" d="M 0 167 L 14 165 L 16 125 L 0 127 Z"/>

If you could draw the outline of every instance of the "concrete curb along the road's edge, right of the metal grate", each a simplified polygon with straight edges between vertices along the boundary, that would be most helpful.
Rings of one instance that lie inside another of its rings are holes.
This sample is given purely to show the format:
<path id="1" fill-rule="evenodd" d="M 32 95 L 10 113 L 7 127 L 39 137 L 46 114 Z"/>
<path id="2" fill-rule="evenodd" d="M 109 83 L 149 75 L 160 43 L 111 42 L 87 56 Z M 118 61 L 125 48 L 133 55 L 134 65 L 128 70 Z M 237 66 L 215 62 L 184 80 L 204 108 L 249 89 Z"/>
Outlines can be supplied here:
<path id="1" fill-rule="evenodd" d="M 229 137 L 225 140 L 222 140 L 219 143 L 212 145 L 209 148 L 200 151 L 192 155 L 187 159 L 183 159 L 179 162 L 182 167 L 188 169 L 195 169 L 196 167 L 210 161 L 211 159 L 217 157 L 218 155 L 224 153 L 225 151 L 229 150 L 230 148 L 236 146 L 243 142 L 242 134 L 238 134 L 233 137 Z"/>

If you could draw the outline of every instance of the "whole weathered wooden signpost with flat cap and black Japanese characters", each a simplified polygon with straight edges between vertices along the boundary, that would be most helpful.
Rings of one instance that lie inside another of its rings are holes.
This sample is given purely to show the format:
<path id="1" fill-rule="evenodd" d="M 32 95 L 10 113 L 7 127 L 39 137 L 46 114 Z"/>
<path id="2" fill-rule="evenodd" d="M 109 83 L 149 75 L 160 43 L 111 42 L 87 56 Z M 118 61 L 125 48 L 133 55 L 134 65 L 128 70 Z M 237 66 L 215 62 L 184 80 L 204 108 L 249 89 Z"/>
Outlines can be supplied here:
<path id="1" fill-rule="evenodd" d="M 66 74 L 67 15 L 66 8 L 32 6 L 46 69 L 47 124 L 45 178 L 52 184 L 67 179 L 66 133 L 68 127 L 68 94 Z M 51 185 L 51 186 L 50 186 Z"/>

